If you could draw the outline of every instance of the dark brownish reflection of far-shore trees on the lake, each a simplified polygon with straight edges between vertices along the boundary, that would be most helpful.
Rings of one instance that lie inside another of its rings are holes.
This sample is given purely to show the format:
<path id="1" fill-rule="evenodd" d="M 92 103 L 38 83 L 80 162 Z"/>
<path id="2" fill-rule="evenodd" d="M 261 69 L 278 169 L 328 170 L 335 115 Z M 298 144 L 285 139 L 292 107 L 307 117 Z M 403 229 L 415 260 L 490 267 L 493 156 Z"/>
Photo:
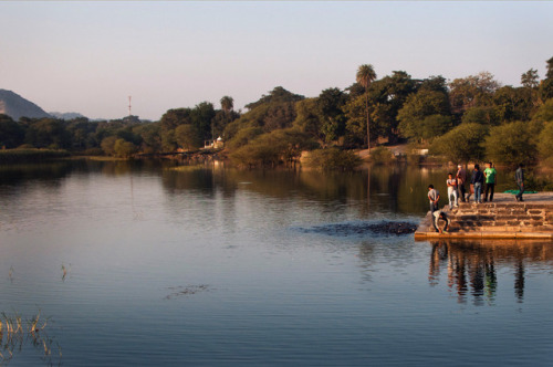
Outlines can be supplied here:
<path id="1" fill-rule="evenodd" d="M 374 212 L 421 214 L 427 209 L 429 182 L 444 181 L 442 168 L 373 166 L 354 172 L 316 170 L 239 170 L 227 167 L 170 167 L 161 172 L 167 193 L 187 190 L 212 195 L 220 190 L 226 198 L 247 190 L 265 197 L 301 198 L 331 206 L 362 201 L 361 214 Z"/>

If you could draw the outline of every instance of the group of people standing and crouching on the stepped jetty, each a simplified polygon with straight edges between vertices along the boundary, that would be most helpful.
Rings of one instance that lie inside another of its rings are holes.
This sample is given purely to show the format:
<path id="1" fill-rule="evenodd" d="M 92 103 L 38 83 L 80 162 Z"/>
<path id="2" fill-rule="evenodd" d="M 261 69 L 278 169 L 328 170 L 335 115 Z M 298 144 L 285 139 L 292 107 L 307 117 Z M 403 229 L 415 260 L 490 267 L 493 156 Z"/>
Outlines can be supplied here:
<path id="1" fill-rule="evenodd" d="M 493 201 L 493 192 L 495 191 L 495 176 L 498 175 L 498 171 L 495 170 L 491 161 L 487 162 L 486 166 L 486 169 L 481 171 L 480 165 L 474 165 L 474 169 L 472 170 L 472 175 L 470 178 L 470 191 L 468 195 L 465 187 L 466 182 L 469 181 L 467 170 L 462 168 L 461 165 L 458 165 L 458 170 L 455 177 L 453 174 L 448 174 L 446 185 L 448 188 L 449 209 L 459 207 L 459 200 L 461 202 L 468 202 L 471 193 L 474 195 L 474 202 L 482 203 L 482 187 L 484 187 L 483 202 Z M 519 168 L 514 172 L 514 180 L 517 182 L 517 186 L 519 187 L 519 192 L 517 193 L 515 199 L 517 201 L 524 201 L 522 199 L 522 193 L 524 192 L 524 170 L 522 164 L 519 165 Z M 434 218 L 432 224 L 436 232 L 447 232 L 449 221 L 447 214 L 441 210 L 438 210 L 440 193 L 434 188 L 434 185 L 428 186 L 428 200 L 430 201 L 430 212 Z M 444 230 L 438 228 L 438 221 L 440 219 L 446 222 Z"/>

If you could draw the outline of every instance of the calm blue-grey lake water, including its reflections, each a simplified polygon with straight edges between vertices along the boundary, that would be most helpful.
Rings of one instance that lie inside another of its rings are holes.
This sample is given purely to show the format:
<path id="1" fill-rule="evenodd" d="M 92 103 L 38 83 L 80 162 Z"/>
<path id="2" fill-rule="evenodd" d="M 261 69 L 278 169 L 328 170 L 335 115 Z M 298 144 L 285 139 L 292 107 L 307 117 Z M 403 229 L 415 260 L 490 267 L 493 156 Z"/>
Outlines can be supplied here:
<path id="1" fill-rule="evenodd" d="M 309 231 L 418 222 L 444 170 L 73 161 L 0 174 L 0 312 L 51 317 L 52 355 L 25 339 L 10 365 L 553 361 L 552 243 Z M 3 335 L 2 355 L 12 347 Z"/>

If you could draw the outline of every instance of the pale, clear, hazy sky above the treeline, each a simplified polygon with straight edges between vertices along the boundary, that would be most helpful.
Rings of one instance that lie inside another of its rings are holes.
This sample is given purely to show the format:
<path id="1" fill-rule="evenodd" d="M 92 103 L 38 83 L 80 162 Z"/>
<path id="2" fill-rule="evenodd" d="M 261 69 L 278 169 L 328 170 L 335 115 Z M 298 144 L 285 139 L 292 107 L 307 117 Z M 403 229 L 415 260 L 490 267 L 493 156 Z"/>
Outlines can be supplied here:
<path id="1" fill-rule="evenodd" d="M 553 1 L 0 1 L 0 88 L 90 118 L 275 86 L 317 96 L 362 64 L 447 80 L 482 71 L 520 85 L 553 56 Z"/>

